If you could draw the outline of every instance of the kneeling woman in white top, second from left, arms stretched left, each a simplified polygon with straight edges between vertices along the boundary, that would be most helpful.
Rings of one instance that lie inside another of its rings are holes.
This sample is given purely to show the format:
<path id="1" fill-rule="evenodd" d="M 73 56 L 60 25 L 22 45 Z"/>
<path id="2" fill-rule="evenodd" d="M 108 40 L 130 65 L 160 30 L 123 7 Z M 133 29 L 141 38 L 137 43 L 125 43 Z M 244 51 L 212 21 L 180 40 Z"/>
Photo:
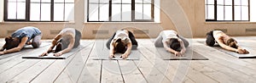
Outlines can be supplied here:
<path id="1" fill-rule="evenodd" d="M 58 57 L 64 53 L 69 52 L 74 47 L 80 45 L 81 33 L 79 30 L 73 28 L 65 28 L 55 36 L 46 53 L 42 53 L 40 56 L 47 56 L 48 53 L 55 53 L 54 56 Z M 56 47 L 55 47 L 56 46 Z M 55 47 L 55 50 L 53 48 Z"/>

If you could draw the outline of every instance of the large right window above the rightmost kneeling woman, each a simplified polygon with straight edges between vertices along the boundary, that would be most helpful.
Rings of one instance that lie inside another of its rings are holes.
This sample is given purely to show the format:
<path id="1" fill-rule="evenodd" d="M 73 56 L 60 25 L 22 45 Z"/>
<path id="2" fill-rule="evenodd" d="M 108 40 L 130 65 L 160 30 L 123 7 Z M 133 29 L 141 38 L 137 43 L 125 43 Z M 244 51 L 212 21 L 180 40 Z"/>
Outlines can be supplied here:
<path id="1" fill-rule="evenodd" d="M 207 21 L 249 21 L 250 0 L 206 0 Z"/>

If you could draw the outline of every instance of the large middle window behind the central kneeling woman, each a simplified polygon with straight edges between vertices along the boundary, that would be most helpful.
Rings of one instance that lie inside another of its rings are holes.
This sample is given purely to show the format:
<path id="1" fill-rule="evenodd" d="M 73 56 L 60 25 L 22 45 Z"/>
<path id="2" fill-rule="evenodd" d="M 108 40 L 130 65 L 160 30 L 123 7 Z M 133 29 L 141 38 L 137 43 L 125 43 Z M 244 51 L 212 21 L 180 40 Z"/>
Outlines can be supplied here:
<path id="1" fill-rule="evenodd" d="M 154 0 L 88 0 L 89 22 L 152 22 Z"/>

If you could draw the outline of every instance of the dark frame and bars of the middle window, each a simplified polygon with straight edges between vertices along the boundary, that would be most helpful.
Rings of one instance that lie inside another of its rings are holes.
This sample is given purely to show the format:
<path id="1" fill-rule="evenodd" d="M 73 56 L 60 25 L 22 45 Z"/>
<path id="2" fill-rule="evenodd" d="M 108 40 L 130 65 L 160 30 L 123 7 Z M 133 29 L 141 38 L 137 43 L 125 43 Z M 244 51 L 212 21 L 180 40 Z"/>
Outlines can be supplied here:
<path id="1" fill-rule="evenodd" d="M 99 18 L 98 18 L 98 21 L 94 21 L 94 20 L 90 20 L 90 0 L 87 0 L 87 22 L 154 22 L 154 0 L 151 0 L 151 19 L 135 19 L 135 0 L 131 0 L 131 21 L 113 21 L 111 19 L 112 17 L 112 0 L 109 0 L 108 2 L 108 21 L 101 21 Z M 99 4 L 99 3 L 98 3 Z M 120 4 L 123 4 L 123 3 L 120 3 Z M 98 12 L 98 17 L 99 17 L 99 12 Z"/>

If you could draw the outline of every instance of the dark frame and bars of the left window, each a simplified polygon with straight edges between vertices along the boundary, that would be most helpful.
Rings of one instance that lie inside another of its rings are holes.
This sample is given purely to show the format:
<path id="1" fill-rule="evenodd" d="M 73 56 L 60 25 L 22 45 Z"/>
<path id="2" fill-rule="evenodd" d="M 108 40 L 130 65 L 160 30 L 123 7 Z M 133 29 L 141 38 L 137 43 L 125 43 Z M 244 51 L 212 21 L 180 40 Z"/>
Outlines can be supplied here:
<path id="1" fill-rule="evenodd" d="M 30 7 L 31 7 L 31 0 L 26 0 L 26 16 L 25 19 L 8 19 L 8 1 L 9 0 L 4 0 L 4 4 L 3 4 L 3 20 L 4 21 L 18 21 L 18 22 L 69 22 L 69 21 L 73 21 L 73 20 L 65 20 L 65 18 L 63 19 L 63 21 L 55 21 L 54 20 L 54 0 L 51 0 L 50 2 L 50 20 L 49 21 L 45 21 L 45 20 L 30 20 Z M 41 1 L 40 1 L 40 11 L 41 11 Z M 64 11 L 65 11 L 65 0 L 64 0 Z M 40 12 L 40 15 L 42 13 Z M 63 14 L 63 17 L 65 16 L 65 13 Z"/>

